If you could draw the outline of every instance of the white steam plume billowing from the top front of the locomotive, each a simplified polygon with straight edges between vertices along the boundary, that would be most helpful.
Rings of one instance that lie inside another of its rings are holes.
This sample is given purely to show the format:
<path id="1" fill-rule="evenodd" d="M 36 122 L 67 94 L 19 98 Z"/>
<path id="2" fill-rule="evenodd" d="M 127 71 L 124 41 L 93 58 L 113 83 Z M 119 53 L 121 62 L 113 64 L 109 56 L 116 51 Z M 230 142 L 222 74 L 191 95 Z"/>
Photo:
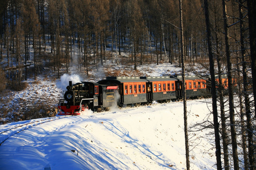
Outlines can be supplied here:
<path id="1" fill-rule="evenodd" d="M 61 90 L 66 90 L 66 87 L 69 85 L 69 81 L 72 81 L 73 84 L 81 82 L 81 77 L 78 75 L 68 75 L 64 74 L 61 76 L 60 80 L 57 80 L 56 86 Z"/>

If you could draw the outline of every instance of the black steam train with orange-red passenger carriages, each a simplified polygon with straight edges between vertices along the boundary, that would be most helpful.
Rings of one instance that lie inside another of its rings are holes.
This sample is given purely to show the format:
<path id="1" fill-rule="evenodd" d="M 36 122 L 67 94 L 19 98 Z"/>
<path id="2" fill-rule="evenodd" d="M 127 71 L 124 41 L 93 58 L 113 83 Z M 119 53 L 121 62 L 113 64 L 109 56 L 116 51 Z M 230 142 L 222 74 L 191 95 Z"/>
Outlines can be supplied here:
<path id="1" fill-rule="evenodd" d="M 210 76 L 185 76 L 186 97 L 209 97 Z M 217 87 L 220 87 L 216 78 Z M 236 79 L 233 79 L 237 87 Z M 222 76 L 221 87 L 228 93 L 228 78 Z M 112 106 L 126 107 L 150 105 L 183 99 L 182 76 L 108 76 L 98 82 L 69 81 L 64 99 L 58 103 L 59 115 L 79 115 L 89 109 L 108 111 Z M 236 89 L 236 88 L 235 88 Z M 236 91 L 236 90 L 235 90 Z"/>

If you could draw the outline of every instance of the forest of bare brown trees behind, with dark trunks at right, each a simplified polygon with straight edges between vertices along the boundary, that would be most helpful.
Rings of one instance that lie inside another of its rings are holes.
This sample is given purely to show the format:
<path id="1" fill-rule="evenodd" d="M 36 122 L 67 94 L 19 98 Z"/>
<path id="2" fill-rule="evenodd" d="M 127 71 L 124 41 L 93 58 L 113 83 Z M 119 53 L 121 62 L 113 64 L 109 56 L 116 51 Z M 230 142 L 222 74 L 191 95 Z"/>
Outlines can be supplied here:
<path id="1" fill-rule="evenodd" d="M 0 91 L 37 79 L 42 60 L 60 77 L 71 63 L 87 75 L 91 66 L 104 67 L 107 56 L 119 64 L 123 51 L 135 70 L 160 61 L 181 67 L 184 57 L 191 65 L 203 63 L 217 87 L 208 127 L 215 127 L 218 170 L 255 170 L 255 15 L 255 0 L 0 0 L 0 76 L 6 77 Z M 238 80 L 239 106 L 233 89 L 225 101 L 222 84 L 214 81 L 224 74 L 229 87 Z"/>

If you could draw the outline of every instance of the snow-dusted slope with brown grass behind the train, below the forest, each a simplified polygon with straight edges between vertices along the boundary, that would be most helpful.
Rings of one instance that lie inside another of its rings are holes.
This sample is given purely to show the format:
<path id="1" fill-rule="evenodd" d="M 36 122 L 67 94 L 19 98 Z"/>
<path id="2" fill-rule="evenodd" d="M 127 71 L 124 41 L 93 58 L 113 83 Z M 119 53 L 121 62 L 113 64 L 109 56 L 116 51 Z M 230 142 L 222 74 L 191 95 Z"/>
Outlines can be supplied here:
<path id="1" fill-rule="evenodd" d="M 127 54 L 123 54 L 125 56 Z M 122 61 L 122 60 L 120 60 Z M 129 61 L 123 58 L 123 62 Z M 45 62 L 45 61 L 44 61 Z M 36 119 L 55 116 L 57 112 L 57 104 L 63 97 L 63 92 L 66 90 L 69 78 L 74 81 L 93 81 L 97 82 L 106 78 L 106 76 L 165 76 L 181 73 L 181 68 L 178 64 L 161 63 L 144 64 L 137 66 L 137 70 L 133 69 L 132 64 L 113 64 L 111 59 L 105 61 L 103 66 L 97 69 L 92 68 L 89 71 L 89 76 L 85 73 L 85 68 L 78 69 L 76 65 L 69 68 L 69 73 L 65 73 L 65 67 L 61 68 L 60 78 L 56 78 L 57 72 L 54 72 L 52 67 L 42 64 L 43 71 L 37 76 L 37 79 L 29 78 L 23 80 L 24 89 L 15 91 L 6 89 L 1 92 L 0 96 L 0 124 L 20 121 L 26 119 Z M 197 72 L 204 72 L 201 65 L 187 65 L 188 68 L 193 68 Z M 193 74 L 193 73 L 187 73 Z M 58 88 L 58 87 L 59 88 Z"/>

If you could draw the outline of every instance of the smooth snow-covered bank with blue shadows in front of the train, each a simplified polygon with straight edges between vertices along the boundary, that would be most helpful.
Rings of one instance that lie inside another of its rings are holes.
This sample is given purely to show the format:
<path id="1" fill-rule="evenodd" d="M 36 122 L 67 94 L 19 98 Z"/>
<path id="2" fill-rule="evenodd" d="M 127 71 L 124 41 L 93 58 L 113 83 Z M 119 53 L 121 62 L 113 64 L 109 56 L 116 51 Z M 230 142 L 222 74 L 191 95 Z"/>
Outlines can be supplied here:
<path id="1" fill-rule="evenodd" d="M 208 102 L 187 102 L 189 126 L 211 121 Z M 17 128 L 6 131 L 12 127 Z M 0 170 L 186 169 L 183 102 L 101 113 L 88 110 L 81 116 L 19 121 L 0 129 L 0 142 L 9 137 L 0 145 Z M 190 133 L 192 170 L 216 169 L 214 141 L 208 133 Z"/>

